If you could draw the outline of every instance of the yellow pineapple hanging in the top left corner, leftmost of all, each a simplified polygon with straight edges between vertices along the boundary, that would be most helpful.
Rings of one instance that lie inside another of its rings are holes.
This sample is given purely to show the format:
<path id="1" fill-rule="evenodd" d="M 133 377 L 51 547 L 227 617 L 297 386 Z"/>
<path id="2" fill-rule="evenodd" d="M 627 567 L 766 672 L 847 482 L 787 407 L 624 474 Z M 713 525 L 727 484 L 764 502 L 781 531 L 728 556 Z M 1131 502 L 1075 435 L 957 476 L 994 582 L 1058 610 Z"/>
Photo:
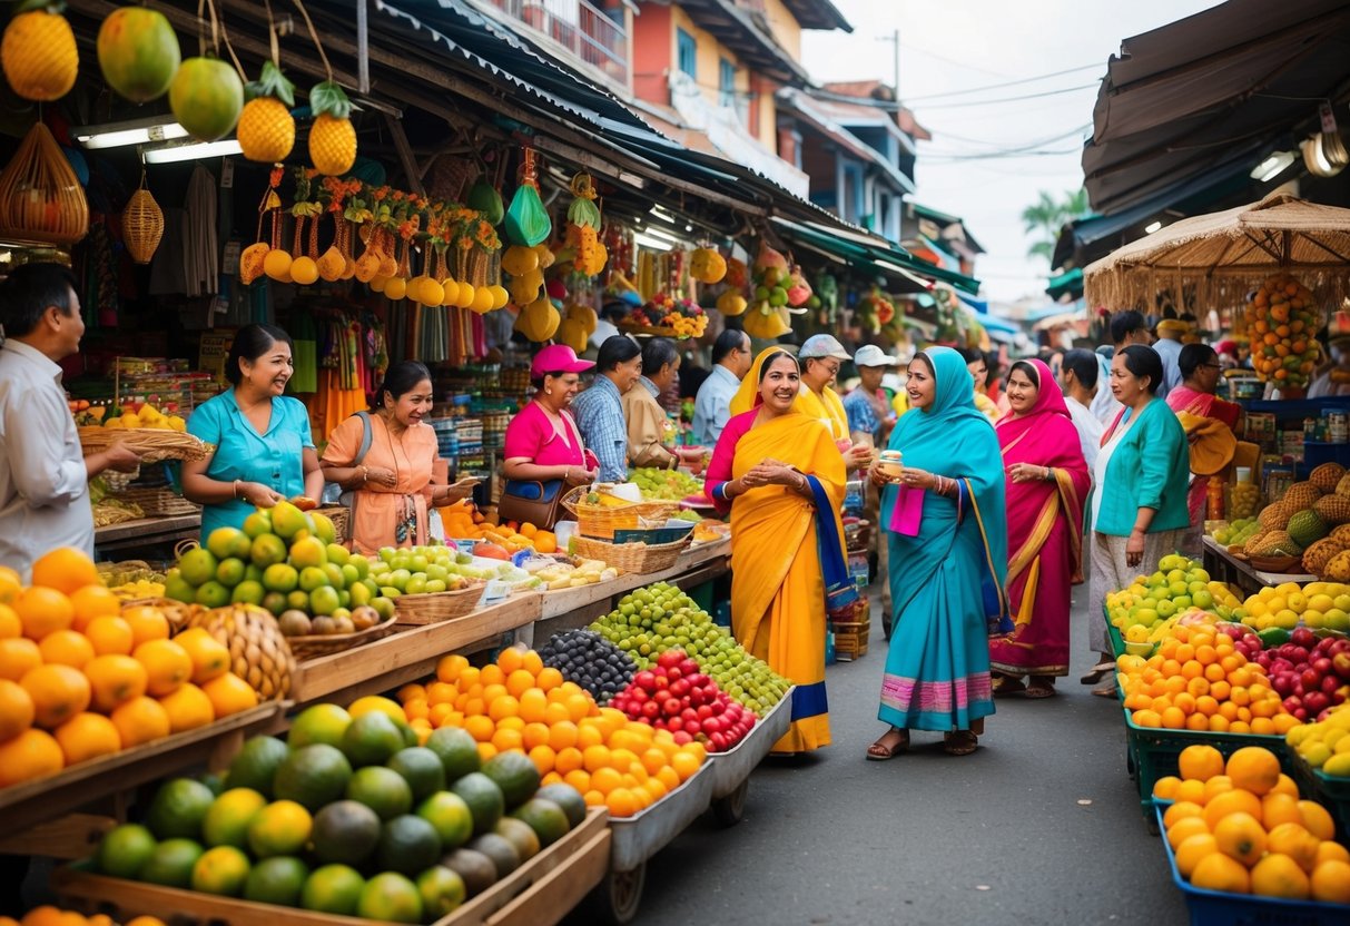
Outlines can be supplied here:
<path id="1" fill-rule="evenodd" d="M 4 30 L 0 66 L 24 100 L 59 100 L 76 85 L 80 51 L 62 8 L 51 0 L 26 0 Z"/>

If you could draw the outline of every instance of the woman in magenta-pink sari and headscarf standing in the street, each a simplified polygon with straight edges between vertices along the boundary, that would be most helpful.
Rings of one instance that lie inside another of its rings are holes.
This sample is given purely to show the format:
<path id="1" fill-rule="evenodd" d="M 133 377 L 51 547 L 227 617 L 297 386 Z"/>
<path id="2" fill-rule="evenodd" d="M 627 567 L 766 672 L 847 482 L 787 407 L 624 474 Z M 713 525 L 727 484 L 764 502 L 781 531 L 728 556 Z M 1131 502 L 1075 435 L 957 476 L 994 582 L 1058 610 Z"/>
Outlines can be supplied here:
<path id="1" fill-rule="evenodd" d="M 1091 476 L 1054 374 L 1018 360 L 998 423 L 1007 471 L 1008 606 L 1015 629 L 990 640 L 995 695 L 1049 698 L 1069 672 L 1069 587 L 1083 582 L 1083 505 Z M 1030 676 L 1023 682 L 1023 678 Z"/>

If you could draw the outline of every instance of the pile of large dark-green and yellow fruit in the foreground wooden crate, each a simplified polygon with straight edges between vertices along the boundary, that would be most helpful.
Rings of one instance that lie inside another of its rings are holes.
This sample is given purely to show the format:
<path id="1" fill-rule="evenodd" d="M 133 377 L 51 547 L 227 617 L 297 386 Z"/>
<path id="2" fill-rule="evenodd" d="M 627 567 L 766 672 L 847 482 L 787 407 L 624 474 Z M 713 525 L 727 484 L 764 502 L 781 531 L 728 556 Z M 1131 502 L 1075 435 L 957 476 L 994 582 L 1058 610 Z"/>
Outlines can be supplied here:
<path id="1" fill-rule="evenodd" d="M 255 737 L 215 794 L 163 784 L 144 823 L 94 859 L 115 877 L 387 922 L 439 919 L 582 822 L 582 795 L 540 788 L 518 753 L 486 763 L 463 730 L 425 746 L 398 705 L 310 707 Z"/>

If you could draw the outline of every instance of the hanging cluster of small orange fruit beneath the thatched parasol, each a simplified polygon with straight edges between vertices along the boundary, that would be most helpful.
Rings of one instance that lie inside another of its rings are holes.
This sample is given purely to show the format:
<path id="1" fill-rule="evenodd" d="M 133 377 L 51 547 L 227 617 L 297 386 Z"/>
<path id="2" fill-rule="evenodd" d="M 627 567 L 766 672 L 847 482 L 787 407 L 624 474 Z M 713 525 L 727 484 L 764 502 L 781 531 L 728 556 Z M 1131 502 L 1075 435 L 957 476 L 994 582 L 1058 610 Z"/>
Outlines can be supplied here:
<path id="1" fill-rule="evenodd" d="M 1251 366 L 1262 381 L 1303 387 L 1318 364 L 1322 327 L 1312 292 L 1289 274 L 1269 277 L 1246 309 Z"/>

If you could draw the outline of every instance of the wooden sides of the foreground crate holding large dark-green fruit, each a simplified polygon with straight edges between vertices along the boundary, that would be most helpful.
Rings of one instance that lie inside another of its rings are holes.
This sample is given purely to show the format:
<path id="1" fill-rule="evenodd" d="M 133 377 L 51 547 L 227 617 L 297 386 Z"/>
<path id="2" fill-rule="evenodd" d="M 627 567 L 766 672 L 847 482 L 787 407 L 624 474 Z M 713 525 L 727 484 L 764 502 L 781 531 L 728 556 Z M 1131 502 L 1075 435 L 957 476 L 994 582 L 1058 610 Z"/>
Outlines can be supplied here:
<path id="1" fill-rule="evenodd" d="M 551 926 L 605 876 L 610 832 L 603 807 L 591 809 L 580 826 L 433 926 Z M 123 922 L 135 915 L 166 917 L 200 926 L 371 926 L 374 921 L 294 907 L 238 900 L 181 888 L 94 875 L 88 863 L 58 868 L 51 888 L 66 904 L 90 913 L 111 911 Z"/>

